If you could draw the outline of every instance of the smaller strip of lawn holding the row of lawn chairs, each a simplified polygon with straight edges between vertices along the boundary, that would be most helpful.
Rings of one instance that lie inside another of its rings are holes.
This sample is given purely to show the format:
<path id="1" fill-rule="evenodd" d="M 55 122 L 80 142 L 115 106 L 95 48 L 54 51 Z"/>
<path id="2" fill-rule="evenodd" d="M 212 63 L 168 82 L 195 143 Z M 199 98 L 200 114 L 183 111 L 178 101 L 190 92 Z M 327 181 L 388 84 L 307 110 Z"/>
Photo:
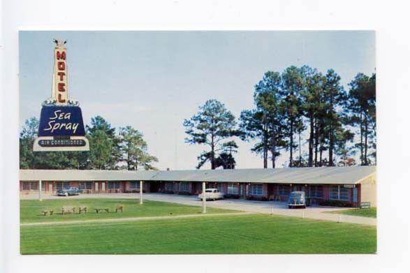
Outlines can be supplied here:
<path id="1" fill-rule="evenodd" d="M 115 207 L 122 205 L 123 213 L 115 213 Z M 61 215 L 62 207 L 87 207 L 87 214 L 64 214 Z M 110 213 L 101 212 L 96 214 L 94 208 L 108 208 Z M 52 216 L 43 216 L 43 209 L 54 210 Z M 45 221 L 78 221 L 90 219 L 113 219 L 126 217 L 145 216 L 170 216 L 182 214 L 200 214 L 201 208 L 198 206 L 187 206 L 169 202 L 156 202 L 144 200 L 140 205 L 138 199 L 115 199 L 115 198 L 65 198 L 52 200 L 20 200 L 20 223 L 34 223 Z M 227 209 L 207 208 L 209 213 L 237 212 Z"/>

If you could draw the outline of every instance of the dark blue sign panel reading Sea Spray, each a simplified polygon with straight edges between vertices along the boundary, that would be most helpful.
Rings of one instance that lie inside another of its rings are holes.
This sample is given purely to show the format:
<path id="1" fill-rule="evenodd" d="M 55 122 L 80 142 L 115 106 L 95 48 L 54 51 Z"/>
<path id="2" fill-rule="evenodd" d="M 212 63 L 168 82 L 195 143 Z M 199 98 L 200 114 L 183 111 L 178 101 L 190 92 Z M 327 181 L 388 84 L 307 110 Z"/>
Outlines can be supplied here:
<path id="1" fill-rule="evenodd" d="M 38 136 L 84 136 L 81 108 L 77 106 L 43 106 Z"/>

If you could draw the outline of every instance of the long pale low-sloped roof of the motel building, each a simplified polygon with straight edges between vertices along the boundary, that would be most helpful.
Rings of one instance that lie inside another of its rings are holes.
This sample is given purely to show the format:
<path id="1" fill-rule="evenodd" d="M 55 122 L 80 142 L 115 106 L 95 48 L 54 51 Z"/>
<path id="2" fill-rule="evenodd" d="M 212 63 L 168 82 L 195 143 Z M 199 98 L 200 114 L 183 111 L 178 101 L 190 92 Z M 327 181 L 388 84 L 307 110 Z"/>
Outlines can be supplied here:
<path id="1" fill-rule="evenodd" d="M 21 181 L 172 181 L 355 184 L 376 166 L 235 170 L 20 170 Z"/>

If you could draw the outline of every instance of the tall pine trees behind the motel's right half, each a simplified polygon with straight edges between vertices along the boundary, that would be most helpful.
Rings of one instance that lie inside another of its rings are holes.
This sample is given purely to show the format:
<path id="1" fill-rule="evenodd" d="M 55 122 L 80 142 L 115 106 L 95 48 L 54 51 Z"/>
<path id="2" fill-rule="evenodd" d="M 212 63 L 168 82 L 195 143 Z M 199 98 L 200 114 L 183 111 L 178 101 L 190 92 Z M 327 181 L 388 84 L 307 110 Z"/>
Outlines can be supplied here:
<path id="1" fill-rule="evenodd" d="M 340 80 L 332 69 L 323 74 L 309 66 L 268 71 L 254 87 L 254 108 L 238 120 L 224 103 L 205 102 L 184 120 L 186 142 L 209 147 L 198 156 L 197 168 L 207 161 L 212 169 L 235 168 L 233 137 L 256 142 L 251 152 L 261 155 L 263 168 L 268 161 L 275 168 L 284 151 L 288 167 L 356 165 L 357 152 L 360 165 L 375 165 L 376 74 L 358 73 L 348 91 Z"/>

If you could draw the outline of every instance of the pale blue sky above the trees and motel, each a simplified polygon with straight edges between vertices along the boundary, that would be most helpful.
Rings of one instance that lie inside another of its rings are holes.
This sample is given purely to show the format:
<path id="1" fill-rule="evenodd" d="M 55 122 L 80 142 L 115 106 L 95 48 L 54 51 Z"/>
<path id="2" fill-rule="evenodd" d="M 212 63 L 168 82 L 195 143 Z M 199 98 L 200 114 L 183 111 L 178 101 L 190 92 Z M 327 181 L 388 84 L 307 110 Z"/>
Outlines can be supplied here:
<path id="1" fill-rule="evenodd" d="M 20 31 L 20 128 L 51 96 L 54 38 L 67 40 L 68 96 L 85 124 L 101 115 L 138 129 L 160 170 L 195 168 L 207 147 L 184 141 L 184 119 L 210 98 L 239 117 L 266 71 L 332 68 L 346 90 L 376 71 L 374 31 Z M 254 142 L 235 140 L 236 168 L 263 168 Z M 277 166 L 287 162 L 282 152 Z"/>

